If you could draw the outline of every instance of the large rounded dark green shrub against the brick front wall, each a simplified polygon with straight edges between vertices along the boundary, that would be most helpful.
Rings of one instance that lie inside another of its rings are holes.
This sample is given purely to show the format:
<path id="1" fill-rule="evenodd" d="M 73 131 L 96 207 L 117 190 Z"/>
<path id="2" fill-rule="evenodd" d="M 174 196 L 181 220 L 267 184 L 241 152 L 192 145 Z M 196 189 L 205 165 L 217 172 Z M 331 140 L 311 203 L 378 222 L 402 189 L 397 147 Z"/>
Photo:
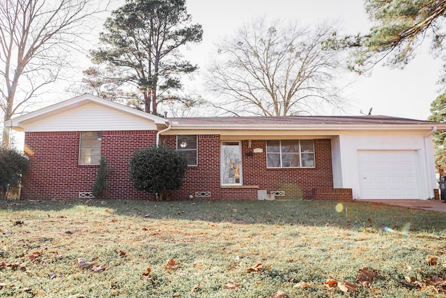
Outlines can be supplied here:
<path id="1" fill-rule="evenodd" d="M 130 159 L 130 180 L 138 191 L 157 194 L 169 200 L 169 191 L 183 185 L 187 161 L 182 152 L 169 147 L 154 146 L 134 152 Z"/>

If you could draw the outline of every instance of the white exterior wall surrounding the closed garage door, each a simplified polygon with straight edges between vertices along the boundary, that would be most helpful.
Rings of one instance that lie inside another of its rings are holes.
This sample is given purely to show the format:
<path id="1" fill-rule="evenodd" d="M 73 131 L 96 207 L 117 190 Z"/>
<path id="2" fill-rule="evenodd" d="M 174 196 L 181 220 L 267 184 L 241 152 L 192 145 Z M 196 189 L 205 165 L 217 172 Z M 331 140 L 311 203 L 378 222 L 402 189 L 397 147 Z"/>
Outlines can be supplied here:
<path id="1" fill-rule="evenodd" d="M 332 139 L 332 165 L 335 188 L 352 188 L 353 198 L 360 199 L 358 150 L 415 150 L 419 161 L 420 199 L 433 198 L 436 186 L 431 137 L 422 134 L 351 133 Z M 340 177 L 336 177 L 340 175 Z"/>

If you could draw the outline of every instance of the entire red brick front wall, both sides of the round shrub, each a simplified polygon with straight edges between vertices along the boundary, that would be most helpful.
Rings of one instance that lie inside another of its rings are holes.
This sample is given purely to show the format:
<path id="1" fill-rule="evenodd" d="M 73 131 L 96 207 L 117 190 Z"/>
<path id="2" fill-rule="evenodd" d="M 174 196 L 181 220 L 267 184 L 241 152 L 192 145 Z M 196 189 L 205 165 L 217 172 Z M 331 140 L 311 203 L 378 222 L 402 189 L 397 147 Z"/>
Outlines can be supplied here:
<path id="1" fill-rule="evenodd" d="M 26 133 L 30 170 L 24 177 L 24 199 L 76 199 L 79 192 L 90 192 L 98 165 L 79 165 L 79 132 Z M 102 154 L 109 169 L 109 191 L 106 198 L 148 199 L 153 194 L 135 191 L 128 174 L 128 163 L 134 150 L 155 144 L 156 131 L 105 131 Z M 161 141 L 176 147 L 175 135 L 162 135 Z M 242 142 L 243 187 L 220 186 L 220 135 L 198 136 L 198 166 L 188 167 L 183 187 L 172 193 L 174 200 L 190 194 L 210 191 L 211 200 L 257 199 L 258 190 L 284 191 L 286 199 L 312 198 L 314 188 L 332 188 L 330 140 L 314 140 L 316 167 L 266 168 L 266 141 Z M 248 154 L 254 148 L 262 153 Z M 250 156 L 249 156 L 250 155 Z M 279 198 L 277 198 L 279 199 Z"/>

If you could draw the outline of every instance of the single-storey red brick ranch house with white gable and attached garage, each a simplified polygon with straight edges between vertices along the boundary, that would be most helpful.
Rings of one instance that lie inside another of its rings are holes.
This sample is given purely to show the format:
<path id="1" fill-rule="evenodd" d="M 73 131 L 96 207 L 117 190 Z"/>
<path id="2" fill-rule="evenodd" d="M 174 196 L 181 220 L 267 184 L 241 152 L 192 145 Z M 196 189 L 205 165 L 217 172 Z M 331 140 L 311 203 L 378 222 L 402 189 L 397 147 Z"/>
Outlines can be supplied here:
<path id="1" fill-rule="evenodd" d="M 431 135 L 446 124 L 385 116 L 167 118 L 85 94 L 7 121 L 24 131 L 24 199 L 89 198 L 105 155 L 107 198 L 136 191 L 134 150 L 187 156 L 173 198 L 374 200 L 438 198 Z"/>

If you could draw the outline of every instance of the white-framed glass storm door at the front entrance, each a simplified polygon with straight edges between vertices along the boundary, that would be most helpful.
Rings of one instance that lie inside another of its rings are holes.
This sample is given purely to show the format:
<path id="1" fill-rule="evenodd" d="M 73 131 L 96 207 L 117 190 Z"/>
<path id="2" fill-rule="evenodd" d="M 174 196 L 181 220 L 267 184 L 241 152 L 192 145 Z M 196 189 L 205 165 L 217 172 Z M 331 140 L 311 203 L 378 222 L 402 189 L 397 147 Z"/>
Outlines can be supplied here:
<path id="1" fill-rule="evenodd" d="M 241 185 L 242 159 L 240 142 L 222 142 L 222 153 L 220 156 L 222 185 Z"/>

